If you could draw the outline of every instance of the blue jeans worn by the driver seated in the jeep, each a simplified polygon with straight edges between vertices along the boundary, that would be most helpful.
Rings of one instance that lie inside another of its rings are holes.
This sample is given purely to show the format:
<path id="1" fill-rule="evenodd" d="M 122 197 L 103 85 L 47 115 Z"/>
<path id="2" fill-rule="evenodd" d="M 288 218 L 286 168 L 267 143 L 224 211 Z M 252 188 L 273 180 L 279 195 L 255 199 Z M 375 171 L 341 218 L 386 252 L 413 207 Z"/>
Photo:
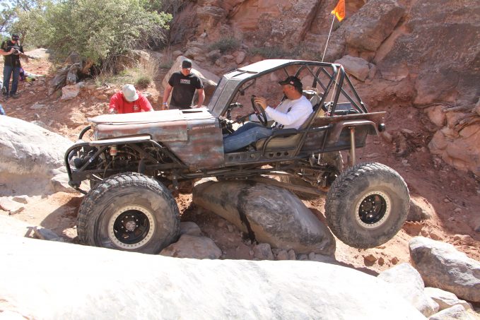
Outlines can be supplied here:
<path id="1" fill-rule="evenodd" d="M 233 134 L 223 138 L 223 152 L 229 153 L 248 146 L 261 138 L 271 136 L 271 132 L 271 128 L 262 126 L 262 124 L 247 122 Z"/>

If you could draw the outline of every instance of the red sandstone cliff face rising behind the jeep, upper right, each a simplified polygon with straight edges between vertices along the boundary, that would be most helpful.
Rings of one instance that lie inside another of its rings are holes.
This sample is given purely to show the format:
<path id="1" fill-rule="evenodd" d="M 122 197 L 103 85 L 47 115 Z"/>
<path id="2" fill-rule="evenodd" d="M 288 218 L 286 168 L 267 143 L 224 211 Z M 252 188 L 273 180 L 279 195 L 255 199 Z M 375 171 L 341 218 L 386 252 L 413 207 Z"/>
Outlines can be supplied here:
<path id="1" fill-rule="evenodd" d="M 193 44 L 201 40 L 204 47 L 218 40 L 236 39 L 242 49 L 250 51 L 246 62 L 272 55 L 320 60 L 332 24 L 330 11 L 336 3 L 188 2 L 175 17 L 171 36 L 173 42 L 188 39 Z M 443 0 L 440 4 L 349 0 L 346 18 L 333 25 L 324 59 L 336 61 L 348 55 L 366 61 L 368 76 L 365 65 L 350 70 L 355 77 L 365 80 L 357 89 L 366 105 L 390 107 L 402 102 L 425 110 L 438 126 L 428 146 L 431 152 L 457 169 L 476 175 L 480 175 L 480 114 L 474 111 L 479 103 L 480 83 L 479 10 L 480 2 L 472 0 Z M 190 50 L 192 57 L 205 61 L 204 53 L 199 55 L 195 50 Z M 220 58 L 212 68 L 230 69 L 225 57 Z M 447 111 L 448 106 L 465 109 Z M 445 118 L 450 118 L 450 122 L 446 123 Z"/>

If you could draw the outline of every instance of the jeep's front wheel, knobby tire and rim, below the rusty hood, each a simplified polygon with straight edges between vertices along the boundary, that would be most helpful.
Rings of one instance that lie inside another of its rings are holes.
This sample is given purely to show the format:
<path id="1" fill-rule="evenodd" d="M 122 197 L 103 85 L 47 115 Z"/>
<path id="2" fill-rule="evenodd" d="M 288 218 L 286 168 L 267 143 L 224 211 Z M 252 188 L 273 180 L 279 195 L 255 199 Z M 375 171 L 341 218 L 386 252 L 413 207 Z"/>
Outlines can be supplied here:
<path id="1" fill-rule="evenodd" d="M 180 213 L 170 191 L 144 174 L 116 174 L 88 192 L 78 211 L 84 244 L 158 254 L 175 242 Z"/>

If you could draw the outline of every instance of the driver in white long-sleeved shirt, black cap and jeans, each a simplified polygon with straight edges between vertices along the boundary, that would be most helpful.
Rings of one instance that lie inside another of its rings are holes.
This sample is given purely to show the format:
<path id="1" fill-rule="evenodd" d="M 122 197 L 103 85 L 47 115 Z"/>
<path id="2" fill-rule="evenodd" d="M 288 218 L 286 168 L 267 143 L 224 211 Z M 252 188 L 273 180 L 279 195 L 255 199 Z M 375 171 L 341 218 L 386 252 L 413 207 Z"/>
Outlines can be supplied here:
<path id="1" fill-rule="evenodd" d="M 261 107 L 270 119 L 275 123 L 271 128 L 254 122 L 247 122 L 233 134 L 223 138 L 223 150 L 225 153 L 238 150 L 261 138 L 271 136 L 275 129 L 298 129 L 312 113 L 310 101 L 302 95 L 303 85 L 295 76 L 289 76 L 284 81 L 279 81 L 281 90 L 286 99 L 276 107 L 267 106 L 264 97 L 255 97 L 254 102 Z"/>

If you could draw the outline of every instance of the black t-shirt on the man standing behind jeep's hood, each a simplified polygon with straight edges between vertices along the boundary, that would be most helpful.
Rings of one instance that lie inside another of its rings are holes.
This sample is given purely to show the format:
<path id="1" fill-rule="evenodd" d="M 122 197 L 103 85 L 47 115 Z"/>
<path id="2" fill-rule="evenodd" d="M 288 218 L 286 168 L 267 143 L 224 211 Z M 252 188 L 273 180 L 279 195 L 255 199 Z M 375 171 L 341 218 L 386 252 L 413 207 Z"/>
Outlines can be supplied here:
<path id="1" fill-rule="evenodd" d="M 173 87 L 170 105 L 187 109 L 192 106 L 195 90 L 204 88 L 201 79 L 194 73 L 184 76 L 182 72 L 172 73 L 168 84 Z"/>

